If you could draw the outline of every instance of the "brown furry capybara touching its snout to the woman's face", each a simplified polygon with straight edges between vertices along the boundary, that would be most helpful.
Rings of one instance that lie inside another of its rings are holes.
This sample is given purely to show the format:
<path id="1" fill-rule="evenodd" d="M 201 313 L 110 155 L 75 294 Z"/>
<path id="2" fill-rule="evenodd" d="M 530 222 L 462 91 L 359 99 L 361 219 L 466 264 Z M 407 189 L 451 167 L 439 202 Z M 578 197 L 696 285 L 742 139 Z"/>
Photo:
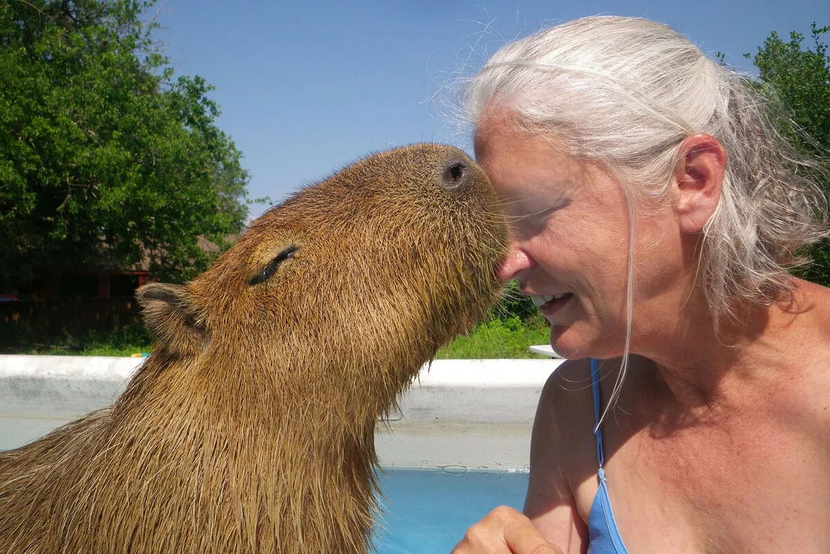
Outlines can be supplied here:
<path id="1" fill-rule="evenodd" d="M 457 148 L 297 192 L 188 284 L 113 406 L 0 454 L 0 552 L 367 552 L 374 427 L 500 292 L 506 229 Z"/>

